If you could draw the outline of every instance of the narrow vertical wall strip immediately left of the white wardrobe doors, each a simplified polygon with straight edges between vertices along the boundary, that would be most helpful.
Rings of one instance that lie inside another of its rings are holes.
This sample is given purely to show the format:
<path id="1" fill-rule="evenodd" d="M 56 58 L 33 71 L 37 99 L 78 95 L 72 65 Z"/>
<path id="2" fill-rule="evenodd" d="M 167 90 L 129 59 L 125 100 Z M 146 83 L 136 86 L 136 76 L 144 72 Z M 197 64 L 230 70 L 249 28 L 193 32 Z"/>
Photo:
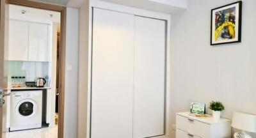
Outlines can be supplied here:
<path id="1" fill-rule="evenodd" d="M 77 137 L 86 137 L 88 95 L 89 2 L 79 9 L 79 59 L 77 91 Z"/>

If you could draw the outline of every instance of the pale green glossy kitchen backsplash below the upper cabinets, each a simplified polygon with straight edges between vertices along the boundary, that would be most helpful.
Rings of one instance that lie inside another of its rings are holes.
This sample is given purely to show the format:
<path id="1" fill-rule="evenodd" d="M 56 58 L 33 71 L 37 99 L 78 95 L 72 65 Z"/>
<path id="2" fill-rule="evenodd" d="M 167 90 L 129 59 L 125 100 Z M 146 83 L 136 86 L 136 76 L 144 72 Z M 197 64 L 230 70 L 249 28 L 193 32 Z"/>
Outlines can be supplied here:
<path id="1" fill-rule="evenodd" d="M 26 81 L 35 81 L 37 77 L 49 76 L 49 63 L 30 61 L 8 61 L 8 82 L 11 77 L 26 77 Z"/>

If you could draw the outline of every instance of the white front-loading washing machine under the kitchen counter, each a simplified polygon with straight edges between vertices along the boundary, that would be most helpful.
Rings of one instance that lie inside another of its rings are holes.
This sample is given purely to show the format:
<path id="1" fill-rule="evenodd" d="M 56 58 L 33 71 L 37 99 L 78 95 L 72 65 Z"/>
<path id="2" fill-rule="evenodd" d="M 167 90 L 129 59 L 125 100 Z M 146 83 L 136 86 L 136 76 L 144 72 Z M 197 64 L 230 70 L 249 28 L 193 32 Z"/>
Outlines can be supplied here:
<path id="1" fill-rule="evenodd" d="M 42 90 L 12 91 L 10 132 L 42 128 Z"/>

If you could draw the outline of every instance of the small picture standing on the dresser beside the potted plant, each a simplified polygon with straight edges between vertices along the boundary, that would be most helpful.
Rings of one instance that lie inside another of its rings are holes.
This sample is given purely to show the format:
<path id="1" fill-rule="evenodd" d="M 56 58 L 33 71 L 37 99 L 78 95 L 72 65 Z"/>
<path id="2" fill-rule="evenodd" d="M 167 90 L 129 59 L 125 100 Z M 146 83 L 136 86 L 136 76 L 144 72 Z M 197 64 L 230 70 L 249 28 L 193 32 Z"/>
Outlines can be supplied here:
<path id="1" fill-rule="evenodd" d="M 191 102 L 190 113 L 191 114 L 205 114 L 205 103 Z"/>

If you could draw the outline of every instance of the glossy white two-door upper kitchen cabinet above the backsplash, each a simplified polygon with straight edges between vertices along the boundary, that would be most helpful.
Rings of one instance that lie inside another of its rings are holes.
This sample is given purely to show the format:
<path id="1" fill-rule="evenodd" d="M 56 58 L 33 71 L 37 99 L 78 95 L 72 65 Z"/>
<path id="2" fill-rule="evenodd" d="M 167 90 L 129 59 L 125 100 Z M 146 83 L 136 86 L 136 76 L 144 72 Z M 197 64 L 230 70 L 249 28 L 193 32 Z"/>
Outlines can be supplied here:
<path id="1" fill-rule="evenodd" d="M 10 20 L 10 61 L 48 61 L 49 25 Z"/>

